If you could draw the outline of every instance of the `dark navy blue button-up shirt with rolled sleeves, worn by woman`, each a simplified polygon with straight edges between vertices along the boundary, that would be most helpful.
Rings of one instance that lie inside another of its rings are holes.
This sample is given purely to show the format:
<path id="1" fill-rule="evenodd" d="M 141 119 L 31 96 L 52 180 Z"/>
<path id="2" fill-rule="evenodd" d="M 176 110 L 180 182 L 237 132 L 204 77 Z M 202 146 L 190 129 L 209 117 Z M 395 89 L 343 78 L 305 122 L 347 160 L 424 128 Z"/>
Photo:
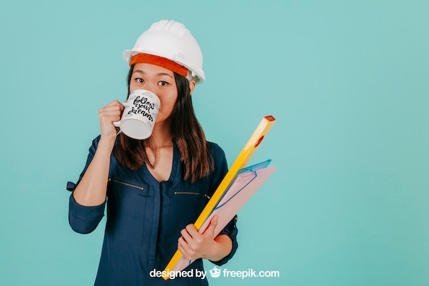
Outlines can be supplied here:
<path id="1" fill-rule="evenodd" d="M 77 184 L 93 160 L 100 136 L 90 147 L 88 160 Z M 194 184 L 184 181 L 180 150 L 173 140 L 173 166 L 169 180 L 158 182 L 146 165 L 132 171 L 110 158 L 107 200 L 99 206 L 81 206 L 73 193 L 69 200 L 69 222 L 77 233 L 90 233 L 99 224 L 107 204 L 107 222 L 95 285 L 208 285 L 207 279 L 153 278 L 152 270 L 162 271 L 177 250 L 180 231 L 193 224 L 212 193 L 228 171 L 225 154 L 215 143 L 208 143 L 215 169 Z M 74 191 L 77 184 L 69 182 Z M 236 217 L 220 234 L 232 239 L 232 251 L 217 265 L 226 263 L 236 252 Z M 204 270 L 197 259 L 186 270 Z"/>

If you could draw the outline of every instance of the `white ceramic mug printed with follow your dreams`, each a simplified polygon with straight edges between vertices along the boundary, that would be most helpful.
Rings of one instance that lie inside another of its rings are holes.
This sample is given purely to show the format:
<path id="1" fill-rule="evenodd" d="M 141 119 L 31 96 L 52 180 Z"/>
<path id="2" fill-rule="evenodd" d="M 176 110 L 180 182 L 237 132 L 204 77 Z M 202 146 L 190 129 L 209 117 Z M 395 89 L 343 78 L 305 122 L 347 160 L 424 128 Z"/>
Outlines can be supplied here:
<path id="1" fill-rule="evenodd" d="M 114 122 L 114 126 L 121 128 L 121 132 L 131 138 L 149 138 L 160 110 L 160 99 L 151 91 L 136 89 L 130 93 L 123 106 L 121 120 Z"/>

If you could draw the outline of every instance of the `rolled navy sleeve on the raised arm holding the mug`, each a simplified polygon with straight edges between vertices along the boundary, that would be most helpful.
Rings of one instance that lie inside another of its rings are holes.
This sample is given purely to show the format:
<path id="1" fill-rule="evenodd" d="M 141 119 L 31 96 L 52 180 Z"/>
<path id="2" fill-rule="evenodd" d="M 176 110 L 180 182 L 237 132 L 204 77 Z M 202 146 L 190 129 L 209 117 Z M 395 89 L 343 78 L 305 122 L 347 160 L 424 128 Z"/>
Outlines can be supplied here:
<path id="1" fill-rule="evenodd" d="M 98 136 L 96 139 L 94 139 L 93 144 L 89 148 L 88 159 L 86 160 L 84 171 L 82 171 L 80 174 L 77 183 L 75 184 L 73 182 L 67 182 L 66 189 L 72 192 L 69 198 L 69 224 L 76 233 L 86 234 L 93 232 L 104 216 L 106 200 L 99 206 L 82 206 L 77 204 L 75 198 L 73 197 L 73 192 L 75 191 L 80 180 L 82 180 L 86 169 L 88 169 L 88 166 L 94 158 L 99 138 L 100 137 Z"/>

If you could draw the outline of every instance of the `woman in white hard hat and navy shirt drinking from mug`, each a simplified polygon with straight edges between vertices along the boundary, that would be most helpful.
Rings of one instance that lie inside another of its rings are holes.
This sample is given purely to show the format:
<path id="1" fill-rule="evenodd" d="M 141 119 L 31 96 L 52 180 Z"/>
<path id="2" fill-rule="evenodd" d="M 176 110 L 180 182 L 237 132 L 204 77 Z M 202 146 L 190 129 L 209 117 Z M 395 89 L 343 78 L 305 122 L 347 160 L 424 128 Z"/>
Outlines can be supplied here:
<path id="1" fill-rule="evenodd" d="M 225 154 L 206 141 L 193 111 L 191 93 L 204 81 L 202 55 L 191 33 L 174 21 L 154 23 L 124 52 L 130 64 L 128 95 L 136 89 L 161 101 L 154 130 L 143 141 L 119 132 L 123 105 L 115 100 L 99 110 L 101 135 L 69 202 L 69 222 L 90 233 L 107 222 L 95 285 L 208 285 L 202 259 L 226 263 L 237 248 L 235 219 L 219 235 L 217 217 L 199 234 L 193 226 L 228 171 Z M 107 200 L 106 200 L 107 198 Z M 196 259 L 185 271 L 193 277 L 164 281 L 162 271 L 177 248 Z"/>

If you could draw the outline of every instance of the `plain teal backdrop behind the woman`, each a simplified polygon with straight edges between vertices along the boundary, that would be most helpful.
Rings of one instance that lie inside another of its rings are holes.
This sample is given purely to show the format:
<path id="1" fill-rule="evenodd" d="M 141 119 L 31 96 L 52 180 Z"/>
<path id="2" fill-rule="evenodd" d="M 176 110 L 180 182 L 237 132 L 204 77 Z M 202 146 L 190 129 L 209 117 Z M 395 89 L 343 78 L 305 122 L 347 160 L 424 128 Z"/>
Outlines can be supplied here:
<path id="1" fill-rule="evenodd" d="M 68 224 L 97 134 L 125 98 L 121 53 L 160 19 L 204 53 L 193 100 L 230 163 L 260 119 L 252 163 L 276 173 L 240 211 L 210 285 L 429 285 L 429 1 L 3 1 L 0 285 L 93 285 L 103 224 Z M 206 264 L 210 270 L 212 264 Z"/>

